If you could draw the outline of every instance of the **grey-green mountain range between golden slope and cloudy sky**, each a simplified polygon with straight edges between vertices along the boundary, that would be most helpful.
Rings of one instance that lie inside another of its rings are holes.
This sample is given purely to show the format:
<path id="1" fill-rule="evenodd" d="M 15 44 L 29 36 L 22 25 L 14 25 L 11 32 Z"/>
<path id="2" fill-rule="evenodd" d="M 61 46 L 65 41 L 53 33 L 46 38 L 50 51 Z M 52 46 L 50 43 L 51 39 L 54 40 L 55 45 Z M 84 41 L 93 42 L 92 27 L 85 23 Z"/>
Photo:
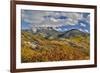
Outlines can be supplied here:
<path id="1" fill-rule="evenodd" d="M 65 32 L 59 32 L 59 31 L 56 31 L 54 29 L 50 29 L 50 30 L 38 29 L 36 33 L 34 33 L 32 30 L 22 30 L 22 31 L 28 31 L 28 32 L 31 32 L 33 35 L 39 34 L 45 38 L 52 38 L 52 39 L 71 38 L 71 37 L 79 37 L 79 36 L 87 37 L 90 35 L 89 33 L 80 31 L 78 29 L 71 29 L 71 30 L 68 30 Z"/>

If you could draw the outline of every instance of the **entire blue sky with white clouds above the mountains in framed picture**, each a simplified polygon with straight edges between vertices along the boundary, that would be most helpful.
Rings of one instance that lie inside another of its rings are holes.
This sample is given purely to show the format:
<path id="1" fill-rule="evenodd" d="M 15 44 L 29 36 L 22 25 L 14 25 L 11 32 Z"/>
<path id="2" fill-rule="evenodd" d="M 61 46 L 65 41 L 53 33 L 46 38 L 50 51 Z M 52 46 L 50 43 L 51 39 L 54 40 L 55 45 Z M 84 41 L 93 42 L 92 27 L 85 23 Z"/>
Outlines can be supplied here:
<path id="1" fill-rule="evenodd" d="M 21 28 L 53 27 L 57 31 L 90 32 L 90 13 L 21 10 Z"/>

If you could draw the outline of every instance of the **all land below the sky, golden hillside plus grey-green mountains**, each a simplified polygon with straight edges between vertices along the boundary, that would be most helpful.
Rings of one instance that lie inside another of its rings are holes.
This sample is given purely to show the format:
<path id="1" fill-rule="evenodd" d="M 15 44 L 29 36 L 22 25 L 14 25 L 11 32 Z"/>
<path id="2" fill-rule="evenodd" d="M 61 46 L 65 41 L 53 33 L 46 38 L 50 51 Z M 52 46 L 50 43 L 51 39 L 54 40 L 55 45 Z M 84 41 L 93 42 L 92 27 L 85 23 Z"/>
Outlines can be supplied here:
<path id="1" fill-rule="evenodd" d="M 66 32 L 39 30 L 22 31 L 21 61 L 47 62 L 87 60 L 90 58 L 89 34 L 72 29 Z"/>

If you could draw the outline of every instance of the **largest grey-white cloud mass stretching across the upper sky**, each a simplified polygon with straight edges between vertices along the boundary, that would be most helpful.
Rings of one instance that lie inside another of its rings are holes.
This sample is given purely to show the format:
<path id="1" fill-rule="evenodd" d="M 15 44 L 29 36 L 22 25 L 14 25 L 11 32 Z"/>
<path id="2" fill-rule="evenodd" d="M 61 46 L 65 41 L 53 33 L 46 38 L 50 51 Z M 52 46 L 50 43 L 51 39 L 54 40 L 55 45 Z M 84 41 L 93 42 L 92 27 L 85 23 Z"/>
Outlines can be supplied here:
<path id="1" fill-rule="evenodd" d="M 50 16 L 44 18 L 44 16 Z M 67 17 L 60 19 L 60 16 Z M 88 17 L 89 18 L 89 17 Z M 51 12 L 51 11 L 25 11 L 22 10 L 22 19 L 32 26 L 51 26 L 76 25 L 78 20 L 84 19 L 82 13 L 76 12 Z"/>

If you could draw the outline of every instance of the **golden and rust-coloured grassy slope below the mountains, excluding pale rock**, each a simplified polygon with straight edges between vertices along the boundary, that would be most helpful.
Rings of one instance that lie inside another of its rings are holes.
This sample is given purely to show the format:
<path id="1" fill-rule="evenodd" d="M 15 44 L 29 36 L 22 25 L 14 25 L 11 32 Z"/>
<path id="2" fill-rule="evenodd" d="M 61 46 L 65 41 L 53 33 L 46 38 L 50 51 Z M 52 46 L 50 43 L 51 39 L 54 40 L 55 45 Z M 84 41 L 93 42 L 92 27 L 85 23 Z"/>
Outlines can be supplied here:
<path id="1" fill-rule="evenodd" d="M 70 39 L 45 39 L 40 35 L 22 32 L 22 62 L 46 62 L 89 59 L 89 37 L 74 37 Z M 24 42 L 37 41 L 37 48 L 32 48 Z"/>

